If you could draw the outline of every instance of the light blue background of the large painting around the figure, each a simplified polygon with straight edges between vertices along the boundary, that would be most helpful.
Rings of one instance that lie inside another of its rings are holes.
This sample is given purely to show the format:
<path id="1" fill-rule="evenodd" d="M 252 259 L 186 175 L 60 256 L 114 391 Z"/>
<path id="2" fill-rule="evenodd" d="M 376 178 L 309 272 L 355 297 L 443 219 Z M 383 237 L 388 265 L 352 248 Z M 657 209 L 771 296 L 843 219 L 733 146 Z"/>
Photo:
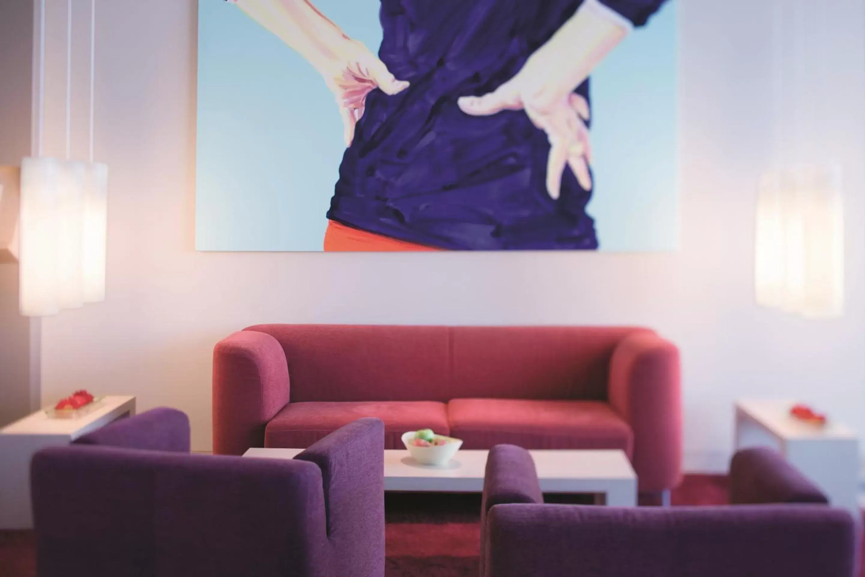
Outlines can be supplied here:
<path id="1" fill-rule="evenodd" d="M 349 36 L 374 50 L 381 43 L 380 0 L 315 3 Z M 600 250 L 674 250 L 675 3 L 619 45 L 592 81 L 588 213 Z M 312 67 L 237 7 L 200 0 L 196 249 L 321 250 L 343 151 L 336 103 Z"/>

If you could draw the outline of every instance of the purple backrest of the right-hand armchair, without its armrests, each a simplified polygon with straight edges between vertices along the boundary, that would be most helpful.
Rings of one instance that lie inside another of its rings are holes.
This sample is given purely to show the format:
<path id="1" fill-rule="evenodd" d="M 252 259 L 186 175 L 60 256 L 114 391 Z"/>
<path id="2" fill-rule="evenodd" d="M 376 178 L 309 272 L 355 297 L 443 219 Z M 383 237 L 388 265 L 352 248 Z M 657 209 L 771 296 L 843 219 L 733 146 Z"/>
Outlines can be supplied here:
<path id="1" fill-rule="evenodd" d="M 501 504 L 486 577 L 852 577 L 855 527 L 820 505 L 707 508 Z"/>

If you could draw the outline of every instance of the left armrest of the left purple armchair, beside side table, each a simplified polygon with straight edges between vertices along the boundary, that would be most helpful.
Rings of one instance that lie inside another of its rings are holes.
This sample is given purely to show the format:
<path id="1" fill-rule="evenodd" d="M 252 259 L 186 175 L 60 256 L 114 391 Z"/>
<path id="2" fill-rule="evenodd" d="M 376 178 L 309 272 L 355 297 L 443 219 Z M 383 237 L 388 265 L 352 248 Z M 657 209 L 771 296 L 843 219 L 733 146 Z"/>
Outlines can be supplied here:
<path id="1" fill-rule="evenodd" d="M 159 407 L 115 420 L 74 441 L 77 445 L 115 446 L 147 451 L 189 452 L 189 417 Z"/>

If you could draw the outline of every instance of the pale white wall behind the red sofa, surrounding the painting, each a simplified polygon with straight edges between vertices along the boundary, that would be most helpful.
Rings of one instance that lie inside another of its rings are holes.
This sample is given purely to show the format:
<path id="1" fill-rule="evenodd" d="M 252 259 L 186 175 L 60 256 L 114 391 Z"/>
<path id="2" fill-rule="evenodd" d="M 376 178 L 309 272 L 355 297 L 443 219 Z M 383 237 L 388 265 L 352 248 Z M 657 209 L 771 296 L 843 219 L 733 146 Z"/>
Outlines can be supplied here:
<path id="1" fill-rule="evenodd" d="M 812 135 L 847 170 L 847 311 L 808 322 L 754 304 L 753 212 L 772 157 L 761 4 L 681 0 L 682 250 L 599 255 L 195 253 L 195 2 L 99 2 L 108 297 L 44 320 L 42 400 L 87 387 L 179 407 L 206 450 L 212 348 L 247 324 L 646 324 L 682 349 L 691 470 L 724 465 L 741 396 L 801 398 L 865 431 L 863 6 L 827 0 L 822 78 L 838 89 Z"/>

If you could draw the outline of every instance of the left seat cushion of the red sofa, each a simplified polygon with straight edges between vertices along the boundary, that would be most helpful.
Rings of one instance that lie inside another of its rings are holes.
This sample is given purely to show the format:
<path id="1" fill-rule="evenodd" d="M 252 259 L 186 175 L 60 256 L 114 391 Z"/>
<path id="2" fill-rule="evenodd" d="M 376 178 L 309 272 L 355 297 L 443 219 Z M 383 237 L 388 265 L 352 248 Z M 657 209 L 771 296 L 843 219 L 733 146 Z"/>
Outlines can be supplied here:
<path id="1" fill-rule="evenodd" d="M 384 421 L 386 449 L 404 449 L 402 433 L 432 429 L 450 433 L 445 403 L 436 401 L 355 401 L 289 403 L 265 429 L 265 446 L 305 449 L 341 426 L 363 417 Z"/>

